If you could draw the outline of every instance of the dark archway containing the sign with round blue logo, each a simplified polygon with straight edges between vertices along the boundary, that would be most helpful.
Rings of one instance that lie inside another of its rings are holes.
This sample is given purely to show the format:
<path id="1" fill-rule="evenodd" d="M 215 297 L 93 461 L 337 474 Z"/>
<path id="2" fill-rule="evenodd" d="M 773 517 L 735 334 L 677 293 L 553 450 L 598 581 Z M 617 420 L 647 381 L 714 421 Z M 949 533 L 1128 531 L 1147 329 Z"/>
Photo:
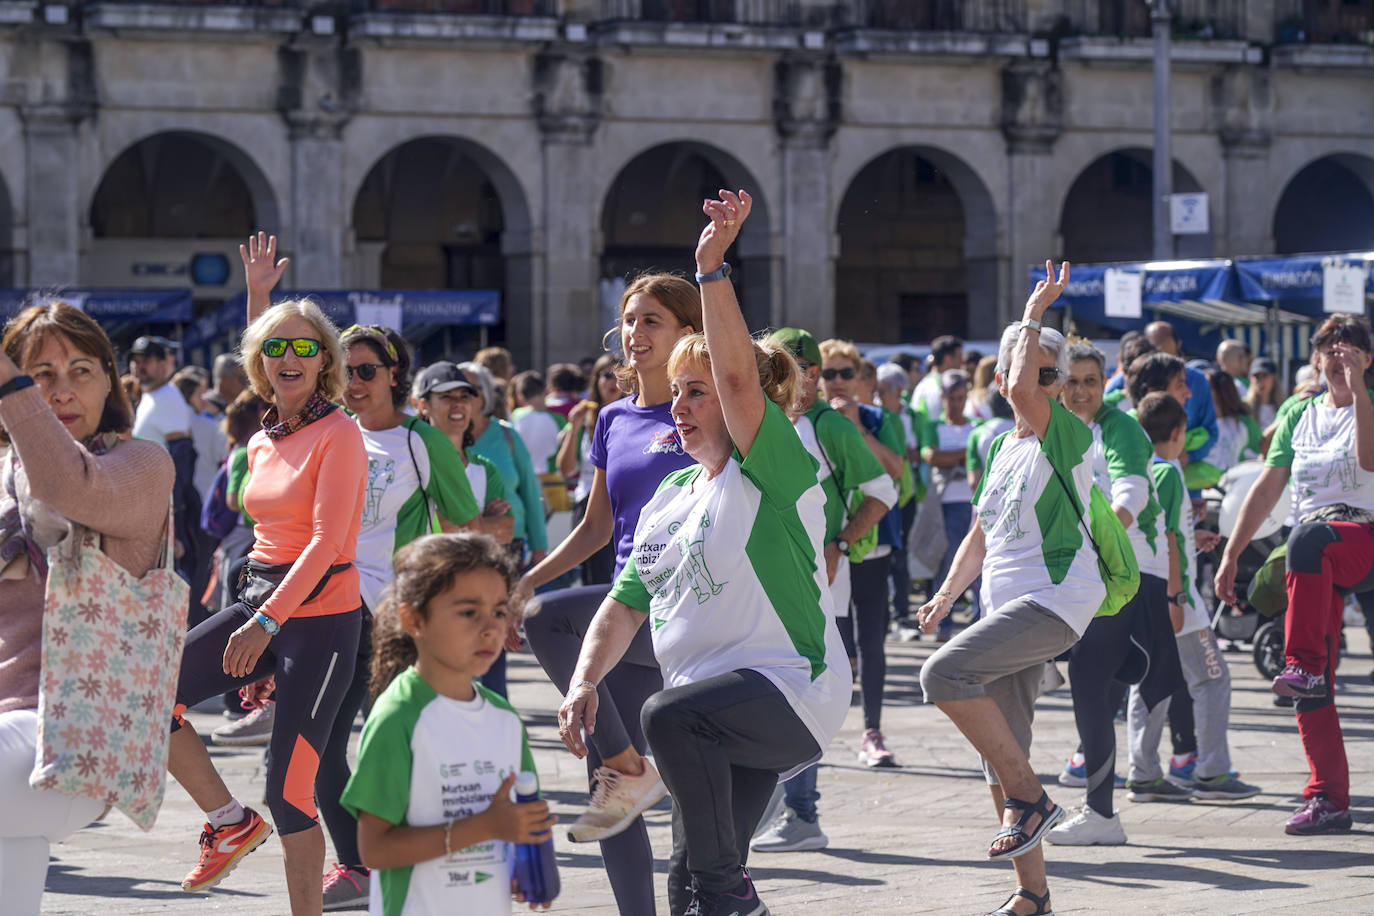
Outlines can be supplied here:
<path id="1" fill-rule="evenodd" d="M 242 290 L 245 238 L 280 229 L 276 196 L 257 163 L 221 137 L 190 130 L 155 133 L 120 152 L 100 176 L 87 217 L 81 284 L 190 287 L 196 314 Z M 132 323 L 110 332 L 143 330 Z"/>

